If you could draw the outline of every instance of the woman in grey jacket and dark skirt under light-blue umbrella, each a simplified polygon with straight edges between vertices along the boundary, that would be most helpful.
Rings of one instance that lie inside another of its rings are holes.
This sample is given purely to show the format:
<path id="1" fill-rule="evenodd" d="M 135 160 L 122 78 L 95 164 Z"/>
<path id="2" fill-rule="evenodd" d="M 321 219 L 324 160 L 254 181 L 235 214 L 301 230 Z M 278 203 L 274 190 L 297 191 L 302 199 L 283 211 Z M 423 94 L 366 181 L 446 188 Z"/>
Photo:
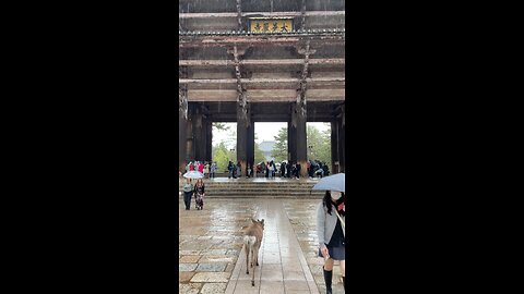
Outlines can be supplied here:
<path id="1" fill-rule="evenodd" d="M 334 260 L 340 261 L 342 282 L 346 289 L 345 174 L 326 176 L 313 189 L 325 189 L 324 198 L 317 209 L 317 232 L 319 256 L 324 258 L 325 289 L 331 294 Z"/>

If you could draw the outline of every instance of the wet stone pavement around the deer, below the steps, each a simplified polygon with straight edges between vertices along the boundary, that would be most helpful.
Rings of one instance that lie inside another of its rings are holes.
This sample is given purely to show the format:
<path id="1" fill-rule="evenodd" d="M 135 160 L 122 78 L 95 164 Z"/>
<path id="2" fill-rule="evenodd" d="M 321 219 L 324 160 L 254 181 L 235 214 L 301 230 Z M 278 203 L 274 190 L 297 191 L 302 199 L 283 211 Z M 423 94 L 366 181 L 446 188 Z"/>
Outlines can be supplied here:
<path id="1" fill-rule="evenodd" d="M 179 293 L 325 293 L 317 257 L 320 199 L 216 199 L 204 210 L 179 200 Z M 265 220 L 255 286 L 246 274 L 242 234 L 251 217 Z M 335 262 L 333 293 L 344 293 Z"/>

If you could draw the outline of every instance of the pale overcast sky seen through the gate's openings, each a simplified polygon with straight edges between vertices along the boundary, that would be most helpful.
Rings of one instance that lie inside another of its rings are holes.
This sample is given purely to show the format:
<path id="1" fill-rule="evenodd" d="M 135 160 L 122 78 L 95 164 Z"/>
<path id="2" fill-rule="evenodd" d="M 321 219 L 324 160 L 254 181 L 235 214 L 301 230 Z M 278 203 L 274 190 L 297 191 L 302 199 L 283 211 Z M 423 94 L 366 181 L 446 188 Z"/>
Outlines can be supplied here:
<path id="1" fill-rule="evenodd" d="M 231 130 L 236 130 L 237 124 L 236 123 L 224 123 L 225 125 L 230 126 Z M 326 123 L 313 123 L 313 122 L 308 122 L 308 125 L 317 127 L 319 131 L 325 131 L 330 128 L 330 124 Z M 263 140 L 275 140 L 276 134 L 278 134 L 278 130 L 282 127 L 287 128 L 287 123 L 285 122 L 279 122 L 279 123 L 265 123 L 265 122 L 257 122 L 254 123 L 254 135 L 257 136 L 255 142 L 261 143 Z M 219 142 L 223 142 L 228 138 L 228 134 L 230 132 L 224 132 L 224 131 L 216 131 L 213 130 L 213 145 L 218 144 Z M 229 147 L 231 147 L 231 144 L 235 145 L 236 142 L 226 142 Z"/>

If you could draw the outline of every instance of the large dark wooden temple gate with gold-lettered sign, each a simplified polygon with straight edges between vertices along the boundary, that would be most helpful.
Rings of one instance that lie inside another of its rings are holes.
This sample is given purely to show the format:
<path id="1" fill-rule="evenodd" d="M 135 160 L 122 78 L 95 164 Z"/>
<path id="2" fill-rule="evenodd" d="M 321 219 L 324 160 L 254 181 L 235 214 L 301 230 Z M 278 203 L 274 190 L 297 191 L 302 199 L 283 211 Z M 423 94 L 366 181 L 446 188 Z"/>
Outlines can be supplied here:
<path id="1" fill-rule="evenodd" d="M 288 123 L 288 160 L 302 176 L 307 122 L 331 123 L 331 170 L 345 171 L 344 1 L 320 1 L 322 11 L 307 10 L 319 1 L 283 2 L 180 1 L 180 171 L 212 160 L 213 122 L 236 122 L 246 175 L 257 163 L 254 122 L 281 121 Z"/>

